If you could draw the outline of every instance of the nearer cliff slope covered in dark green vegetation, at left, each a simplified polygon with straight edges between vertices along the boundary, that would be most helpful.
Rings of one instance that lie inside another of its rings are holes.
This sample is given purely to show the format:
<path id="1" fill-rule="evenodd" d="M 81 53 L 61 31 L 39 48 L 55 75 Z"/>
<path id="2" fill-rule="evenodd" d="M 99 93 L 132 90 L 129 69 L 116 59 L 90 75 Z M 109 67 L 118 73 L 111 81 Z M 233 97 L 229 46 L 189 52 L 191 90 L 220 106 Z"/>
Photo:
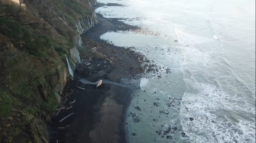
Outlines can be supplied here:
<path id="1" fill-rule="evenodd" d="M 0 142 L 11 143 L 25 127 L 42 136 L 32 126 L 46 125 L 58 105 L 51 91 L 58 80 L 46 78 L 65 75 L 61 56 L 73 44 L 19 6 L 0 4 L 0 14 Z"/>

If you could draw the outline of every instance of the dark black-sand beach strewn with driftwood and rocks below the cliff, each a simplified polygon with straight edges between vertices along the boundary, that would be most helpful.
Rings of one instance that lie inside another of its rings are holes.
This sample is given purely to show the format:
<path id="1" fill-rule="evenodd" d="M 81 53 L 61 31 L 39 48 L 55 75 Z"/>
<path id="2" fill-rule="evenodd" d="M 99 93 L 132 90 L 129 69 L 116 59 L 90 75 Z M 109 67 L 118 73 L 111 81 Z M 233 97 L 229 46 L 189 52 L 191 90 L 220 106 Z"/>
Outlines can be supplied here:
<path id="1" fill-rule="evenodd" d="M 81 54 L 81 59 L 90 65 L 79 64 L 75 79 L 67 83 L 63 93 L 67 99 L 63 104 L 65 109 L 52 118 L 48 125 L 51 143 L 56 143 L 57 140 L 58 143 L 128 142 L 125 130 L 126 112 L 132 99 L 132 89 L 139 88 L 139 78 L 144 73 L 140 62 L 143 56 L 100 40 L 100 35 L 109 30 L 118 30 L 115 25 L 122 23 L 97 16 L 100 23 L 82 35 L 86 48 L 96 47 L 97 52 L 94 51 L 95 56 L 91 60 Z M 135 27 L 127 25 L 123 28 L 130 30 Z M 103 54 L 113 62 L 102 58 Z M 102 79 L 103 85 L 96 88 L 96 85 L 83 84 L 79 81 L 81 79 L 89 82 Z M 123 86 L 123 79 L 132 81 L 133 84 Z M 70 116 L 60 123 L 67 115 Z"/>

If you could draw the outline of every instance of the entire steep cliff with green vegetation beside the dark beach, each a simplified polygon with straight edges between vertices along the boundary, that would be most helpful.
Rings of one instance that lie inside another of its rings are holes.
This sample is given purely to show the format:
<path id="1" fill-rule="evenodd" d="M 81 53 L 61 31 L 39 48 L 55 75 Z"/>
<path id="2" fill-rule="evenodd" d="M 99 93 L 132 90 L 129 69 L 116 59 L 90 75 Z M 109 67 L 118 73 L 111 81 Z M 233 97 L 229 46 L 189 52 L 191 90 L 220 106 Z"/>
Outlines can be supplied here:
<path id="1" fill-rule="evenodd" d="M 96 0 L 0 0 L 0 142 L 47 143 Z M 81 48 L 80 48 L 81 49 Z"/>

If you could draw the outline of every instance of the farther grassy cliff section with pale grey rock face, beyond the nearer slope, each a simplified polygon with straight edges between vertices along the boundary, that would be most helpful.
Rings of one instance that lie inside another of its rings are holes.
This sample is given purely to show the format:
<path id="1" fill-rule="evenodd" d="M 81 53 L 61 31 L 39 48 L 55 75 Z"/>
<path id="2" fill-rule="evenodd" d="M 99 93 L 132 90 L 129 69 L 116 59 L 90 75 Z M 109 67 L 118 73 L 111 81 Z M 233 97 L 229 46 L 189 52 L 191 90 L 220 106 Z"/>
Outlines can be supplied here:
<path id="1" fill-rule="evenodd" d="M 61 5 L 61 1 L 58 2 L 58 0 L 56 0 L 58 4 L 51 3 L 50 0 L 24 0 L 24 4 L 31 13 L 34 13 L 39 18 L 43 18 L 61 35 L 69 38 L 76 47 L 80 47 L 82 45 L 80 34 L 93 27 L 98 23 L 98 20 L 94 8 L 90 7 L 90 5 L 97 4 L 96 0 L 78 1 L 80 1 L 79 4 L 84 5 L 85 8 L 83 9 L 88 9 L 84 14 L 70 9 L 65 3 Z M 68 8 L 67 11 L 69 12 L 65 13 L 59 7 Z"/>

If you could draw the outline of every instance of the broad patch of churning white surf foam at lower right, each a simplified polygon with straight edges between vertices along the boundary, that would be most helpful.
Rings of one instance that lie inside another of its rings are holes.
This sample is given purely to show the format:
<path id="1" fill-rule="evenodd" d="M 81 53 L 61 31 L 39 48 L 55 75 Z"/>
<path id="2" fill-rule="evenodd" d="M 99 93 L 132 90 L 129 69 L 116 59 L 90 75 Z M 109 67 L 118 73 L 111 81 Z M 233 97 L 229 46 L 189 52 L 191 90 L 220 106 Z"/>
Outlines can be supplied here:
<path id="1" fill-rule="evenodd" d="M 184 94 L 180 116 L 183 130 L 192 142 L 255 142 L 254 105 L 232 97 L 213 85 L 187 82 L 193 85 L 193 93 Z M 195 120 L 191 121 L 191 117 Z"/>

